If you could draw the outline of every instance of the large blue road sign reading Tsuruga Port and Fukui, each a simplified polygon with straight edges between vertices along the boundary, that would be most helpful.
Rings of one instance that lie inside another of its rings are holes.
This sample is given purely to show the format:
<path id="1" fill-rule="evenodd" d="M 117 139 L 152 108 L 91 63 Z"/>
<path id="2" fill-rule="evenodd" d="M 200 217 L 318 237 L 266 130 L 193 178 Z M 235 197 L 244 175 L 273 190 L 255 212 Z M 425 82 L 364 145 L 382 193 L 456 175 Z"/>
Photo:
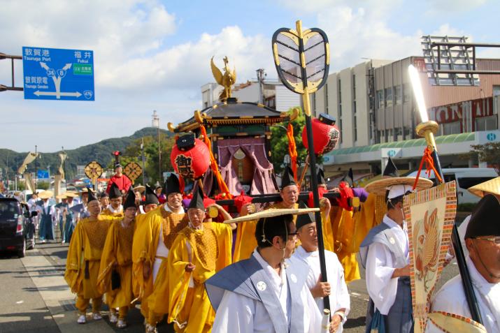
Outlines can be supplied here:
<path id="1" fill-rule="evenodd" d="M 94 101 L 94 52 L 22 47 L 24 99 Z"/>

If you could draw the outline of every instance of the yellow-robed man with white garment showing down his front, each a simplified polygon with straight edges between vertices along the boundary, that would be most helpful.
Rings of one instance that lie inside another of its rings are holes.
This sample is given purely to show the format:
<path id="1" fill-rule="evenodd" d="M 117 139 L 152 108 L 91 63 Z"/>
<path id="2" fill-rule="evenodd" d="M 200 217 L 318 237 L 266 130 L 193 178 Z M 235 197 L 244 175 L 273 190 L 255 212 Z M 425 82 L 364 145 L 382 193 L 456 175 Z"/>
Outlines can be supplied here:
<path id="1" fill-rule="evenodd" d="M 160 267 L 166 265 L 173 240 L 188 221 L 176 175 L 170 175 L 164 187 L 165 204 L 136 218 L 132 246 L 134 295 L 141 300 L 146 332 L 155 332 L 158 321 L 168 312 L 168 272 Z M 157 290 L 156 295 L 152 295 L 153 290 Z"/>

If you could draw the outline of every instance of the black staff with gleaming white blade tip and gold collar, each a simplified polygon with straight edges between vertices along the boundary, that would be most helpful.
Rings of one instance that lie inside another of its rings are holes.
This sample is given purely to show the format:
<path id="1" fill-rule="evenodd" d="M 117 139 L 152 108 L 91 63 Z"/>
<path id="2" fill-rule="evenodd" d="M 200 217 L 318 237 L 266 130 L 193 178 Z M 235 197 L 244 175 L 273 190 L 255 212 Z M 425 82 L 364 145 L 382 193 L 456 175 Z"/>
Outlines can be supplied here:
<path id="1" fill-rule="evenodd" d="M 438 123 L 436 121 L 429 121 L 429 116 L 427 115 L 427 108 L 425 108 L 424 94 L 422 92 L 422 85 L 420 84 L 420 77 L 413 65 L 408 66 L 408 73 L 410 75 L 410 81 L 413 86 L 413 93 L 415 94 L 415 99 L 417 101 L 418 110 L 420 112 L 420 119 L 422 123 L 417 125 L 416 132 L 422 138 L 425 138 L 427 142 L 427 151 L 430 151 L 432 160 L 434 161 L 434 168 L 437 172 L 435 177 L 438 182 L 443 183 L 443 171 L 441 170 L 441 163 L 439 162 L 438 151 L 436 149 L 436 141 L 434 140 L 434 134 L 438 131 Z M 474 293 L 471 275 L 469 274 L 469 269 L 464 257 L 464 250 L 462 249 L 462 244 L 460 242 L 457 225 L 453 224 L 452 230 L 452 242 L 453 249 L 455 249 L 455 257 L 457 258 L 457 264 L 460 271 L 460 276 L 462 276 L 462 285 L 464 286 L 464 292 L 467 299 L 467 304 L 469 304 L 469 310 L 471 311 L 472 319 L 476 322 L 483 324 L 483 319 L 481 318 L 481 313 L 478 307 L 478 300 L 476 299 L 476 294 Z"/>

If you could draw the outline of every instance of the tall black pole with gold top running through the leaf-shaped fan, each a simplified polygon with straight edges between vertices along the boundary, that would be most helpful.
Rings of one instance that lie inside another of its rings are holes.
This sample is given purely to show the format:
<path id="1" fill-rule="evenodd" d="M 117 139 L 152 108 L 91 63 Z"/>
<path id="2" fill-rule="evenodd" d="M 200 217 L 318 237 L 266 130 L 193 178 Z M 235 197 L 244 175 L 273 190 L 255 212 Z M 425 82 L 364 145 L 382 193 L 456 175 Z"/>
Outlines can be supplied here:
<path id="1" fill-rule="evenodd" d="M 308 82 L 307 82 L 307 72 L 306 64 L 303 61 L 306 58 L 303 56 L 303 39 L 302 39 L 302 22 L 297 21 L 297 34 L 299 34 L 299 54 L 301 59 L 301 76 L 304 94 L 303 96 L 303 112 L 306 115 L 306 134 L 308 142 L 308 154 L 310 161 L 310 183 L 311 191 L 313 192 L 313 202 L 314 207 L 320 207 L 320 195 L 317 193 L 317 177 L 316 177 L 316 156 L 314 154 L 314 140 L 313 140 L 313 125 L 310 119 L 310 101 L 308 92 Z M 322 282 L 327 282 L 327 265 L 324 258 L 324 243 L 323 243 L 323 227 L 321 223 L 321 212 L 315 212 L 316 219 L 316 230 L 317 230 L 317 250 L 320 255 L 320 270 L 321 270 L 321 280 Z M 323 297 L 324 309 L 330 310 L 330 299 L 329 297 Z"/>

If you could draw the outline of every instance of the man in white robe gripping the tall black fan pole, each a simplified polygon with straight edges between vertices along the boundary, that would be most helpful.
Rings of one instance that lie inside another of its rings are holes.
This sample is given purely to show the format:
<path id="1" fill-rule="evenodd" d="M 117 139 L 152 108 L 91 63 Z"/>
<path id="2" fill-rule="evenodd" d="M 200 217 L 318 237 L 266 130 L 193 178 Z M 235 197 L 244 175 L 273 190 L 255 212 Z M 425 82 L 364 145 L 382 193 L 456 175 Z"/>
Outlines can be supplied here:
<path id="1" fill-rule="evenodd" d="M 305 205 L 301 208 L 305 208 Z M 317 232 L 313 213 L 297 216 L 297 232 L 301 245 L 292 258 L 306 262 L 309 267 L 307 286 L 313 295 L 320 313 L 323 312 L 323 297 L 328 296 L 331 310 L 331 332 L 343 332 L 343 324 L 350 310 L 348 287 L 345 285 L 344 270 L 335 253 L 324 250 L 327 266 L 327 282 L 321 282 L 320 255 L 317 249 Z"/>

